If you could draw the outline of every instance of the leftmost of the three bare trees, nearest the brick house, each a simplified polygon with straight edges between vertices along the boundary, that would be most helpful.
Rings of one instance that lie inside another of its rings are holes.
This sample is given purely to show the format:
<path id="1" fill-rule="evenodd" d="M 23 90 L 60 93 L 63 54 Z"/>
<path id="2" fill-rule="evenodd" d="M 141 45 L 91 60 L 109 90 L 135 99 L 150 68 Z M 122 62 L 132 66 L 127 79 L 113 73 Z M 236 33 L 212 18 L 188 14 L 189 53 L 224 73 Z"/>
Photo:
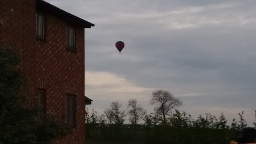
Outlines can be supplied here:
<path id="1" fill-rule="evenodd" d="M 117 101 L 111 102 L 110 108 L 105 109 L 104 113 L 110 124 L 123 124 L 125 119 L 125 110 L 121 111 L 122 105 Z"/>

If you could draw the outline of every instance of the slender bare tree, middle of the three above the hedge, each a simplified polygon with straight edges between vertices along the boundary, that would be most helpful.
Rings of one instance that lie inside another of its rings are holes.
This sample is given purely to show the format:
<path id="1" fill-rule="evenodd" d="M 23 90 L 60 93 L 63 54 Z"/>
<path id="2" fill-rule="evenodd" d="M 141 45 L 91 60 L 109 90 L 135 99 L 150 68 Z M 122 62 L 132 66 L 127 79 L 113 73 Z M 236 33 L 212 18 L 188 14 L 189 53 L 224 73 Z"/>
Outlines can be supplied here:
<path id="1" fill-rule="evenodd" d="M 143 108 L 137 104 L 136 99 L 129 100 L 127 108 L 131 108 L 128 110 L 128 115 L 130 116 L 129 121 L 133 126 L 136 127 L 143 113 Z"/>

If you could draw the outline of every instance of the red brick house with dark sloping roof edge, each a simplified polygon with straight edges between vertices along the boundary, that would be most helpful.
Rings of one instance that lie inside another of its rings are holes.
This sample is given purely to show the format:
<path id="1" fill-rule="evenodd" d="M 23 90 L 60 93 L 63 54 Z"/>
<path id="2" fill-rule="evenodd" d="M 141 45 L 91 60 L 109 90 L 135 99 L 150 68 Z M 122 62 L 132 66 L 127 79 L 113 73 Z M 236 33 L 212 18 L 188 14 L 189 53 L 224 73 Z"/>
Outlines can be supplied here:
<path id="1" fill-rule="evenodd" d="M 42 0 L 0 0 L 0 42 L 17 48 L 28 78 L 22 93 L 74 133 L 54 143 L 85 143 L 84 28 L 94 25 Z"/>

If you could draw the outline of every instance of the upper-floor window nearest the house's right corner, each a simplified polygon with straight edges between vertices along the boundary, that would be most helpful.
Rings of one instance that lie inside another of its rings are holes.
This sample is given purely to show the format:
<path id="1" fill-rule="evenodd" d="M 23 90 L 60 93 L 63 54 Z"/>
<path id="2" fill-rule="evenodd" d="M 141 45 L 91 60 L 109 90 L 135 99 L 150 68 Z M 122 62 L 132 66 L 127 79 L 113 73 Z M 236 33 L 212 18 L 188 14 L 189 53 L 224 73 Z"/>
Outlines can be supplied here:
<path id="1" fill-rule="evenodd" d="M 69 50 L 76 50 L 75 28 L 67 27 L 67 45 Z"/>

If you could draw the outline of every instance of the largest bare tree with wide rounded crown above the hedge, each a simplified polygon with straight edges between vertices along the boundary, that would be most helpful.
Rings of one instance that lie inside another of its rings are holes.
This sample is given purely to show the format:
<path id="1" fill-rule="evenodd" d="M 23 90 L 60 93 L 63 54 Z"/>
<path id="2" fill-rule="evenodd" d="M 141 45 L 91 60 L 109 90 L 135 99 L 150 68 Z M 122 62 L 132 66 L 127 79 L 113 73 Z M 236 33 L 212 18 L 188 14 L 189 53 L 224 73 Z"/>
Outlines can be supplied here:
<path id="1" fill-rule="evenodd" d="M 156 105 L 156 115 L 163 116 L 163 124 L 166 125 L 166 115 L 169 115 L 172 109 L 182 106 L 182 101 L 174 98 L 169 91 L 157 90 L 152 92 L 150 104 Z"/>

